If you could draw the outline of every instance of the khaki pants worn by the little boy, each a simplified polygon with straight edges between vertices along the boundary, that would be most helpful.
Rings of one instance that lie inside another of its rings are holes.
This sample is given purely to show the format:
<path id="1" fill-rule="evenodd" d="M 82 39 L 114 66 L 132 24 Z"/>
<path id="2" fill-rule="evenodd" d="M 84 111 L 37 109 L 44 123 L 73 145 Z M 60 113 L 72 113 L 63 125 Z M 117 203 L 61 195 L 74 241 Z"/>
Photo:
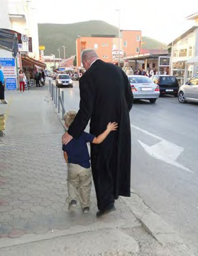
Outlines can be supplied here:
<path id="1" fill-rule="evenodd" d="M 68 200 L 77 200 L 79 196 L 81 207 L 90 207 L 92 188 L 92 171 L 77 164 L 68 164 Z"/>

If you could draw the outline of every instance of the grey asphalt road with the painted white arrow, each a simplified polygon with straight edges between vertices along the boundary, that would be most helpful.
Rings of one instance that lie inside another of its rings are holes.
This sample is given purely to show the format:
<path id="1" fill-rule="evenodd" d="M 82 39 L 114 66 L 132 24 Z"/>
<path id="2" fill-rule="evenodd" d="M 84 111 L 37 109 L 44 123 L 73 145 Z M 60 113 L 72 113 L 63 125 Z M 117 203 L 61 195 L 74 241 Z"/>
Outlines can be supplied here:
<path id="1" fill-rule="evenodd" d="M 78 110 L 78 82 L 64 88 L 66 110 Z M 198 255 L 198 104 L 173 96 L 134 103 L 131 186 Z"/>

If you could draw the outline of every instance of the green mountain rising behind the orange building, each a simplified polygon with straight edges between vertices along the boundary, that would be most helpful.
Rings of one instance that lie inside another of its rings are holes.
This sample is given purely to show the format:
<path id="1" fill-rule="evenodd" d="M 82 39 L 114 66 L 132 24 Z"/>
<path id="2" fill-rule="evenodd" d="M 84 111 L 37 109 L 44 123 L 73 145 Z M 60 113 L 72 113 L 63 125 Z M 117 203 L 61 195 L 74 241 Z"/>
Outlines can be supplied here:
<path id="1" fill-rule="evenodd" d="M 38 24 L 39 45 L 45 45 L 44 55 L 54 54 L 59 57 L 57 49 L 60 49 L 61 58 L 64 58 L 66 46 L 66 58 L 76 55 L 76 38 L 89 37 L 92 34 L 110 34 L 118 37 L 118 28 L 104 21 L 85 21 L 73 24 Z M 142 37 L 142 49 L 160 48 L 165 44 L 149 37 Z"/>

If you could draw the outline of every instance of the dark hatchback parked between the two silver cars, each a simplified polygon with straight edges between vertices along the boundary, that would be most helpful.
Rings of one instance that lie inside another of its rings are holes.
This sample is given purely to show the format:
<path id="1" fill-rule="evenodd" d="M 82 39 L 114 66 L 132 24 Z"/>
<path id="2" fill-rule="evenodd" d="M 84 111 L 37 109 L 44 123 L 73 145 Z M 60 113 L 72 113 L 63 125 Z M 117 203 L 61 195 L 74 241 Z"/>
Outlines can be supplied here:
<path id="1" fill-rule="evenodd" d="M 160 95 L 172 94 L 177 97 L 179 90 L 179 83 L 176 76 L 169 75 L 154 75 L 151 80 L 160 87 Z"/>

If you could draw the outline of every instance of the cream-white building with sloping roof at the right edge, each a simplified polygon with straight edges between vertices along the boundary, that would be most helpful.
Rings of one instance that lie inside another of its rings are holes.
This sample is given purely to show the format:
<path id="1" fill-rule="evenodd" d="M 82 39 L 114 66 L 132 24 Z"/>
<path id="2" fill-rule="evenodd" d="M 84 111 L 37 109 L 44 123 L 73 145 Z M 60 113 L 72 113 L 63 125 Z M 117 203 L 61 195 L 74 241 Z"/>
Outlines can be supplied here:
<path id="1" fill-rule="evenodd" d="M 172 46 L 171 75 L 176 76 L 180 84 L 198 73 L 198 13 L 187 20 L 195 20 L 195 25 L 169 44 Z"/>

